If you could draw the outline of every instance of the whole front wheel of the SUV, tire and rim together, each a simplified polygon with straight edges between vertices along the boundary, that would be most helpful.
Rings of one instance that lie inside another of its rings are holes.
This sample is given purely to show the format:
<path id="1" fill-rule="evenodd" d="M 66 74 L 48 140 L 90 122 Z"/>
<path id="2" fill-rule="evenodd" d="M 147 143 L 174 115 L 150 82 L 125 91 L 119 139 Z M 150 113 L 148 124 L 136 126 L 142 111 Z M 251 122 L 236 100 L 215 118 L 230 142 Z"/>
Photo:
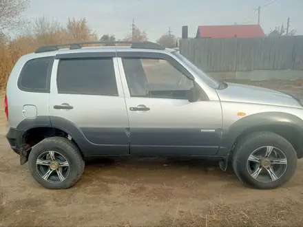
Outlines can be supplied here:
<path id="1" fill-rule="evenodd" d="M 277 188 L 293 177 L 297 154 L 282 136 L 256 132 L 238 142 L 233 151 L 232 166 L 238 178 L 248 186 Z"/>

